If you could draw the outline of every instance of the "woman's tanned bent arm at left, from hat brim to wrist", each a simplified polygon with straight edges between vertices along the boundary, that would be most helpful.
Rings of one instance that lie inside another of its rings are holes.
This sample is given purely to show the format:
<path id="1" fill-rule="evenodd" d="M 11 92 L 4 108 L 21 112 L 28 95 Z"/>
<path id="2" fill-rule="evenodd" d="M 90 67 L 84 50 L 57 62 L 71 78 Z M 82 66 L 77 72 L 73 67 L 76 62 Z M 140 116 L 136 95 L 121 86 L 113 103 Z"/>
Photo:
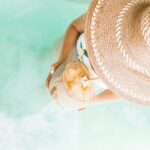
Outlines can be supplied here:
<path id="1" fill-rule="evenodd" d="M 74 20 L 68 27 L 58 62 L 64 62 L 75 47 L 79 35 L 84 32 L 86 14 Z"/>

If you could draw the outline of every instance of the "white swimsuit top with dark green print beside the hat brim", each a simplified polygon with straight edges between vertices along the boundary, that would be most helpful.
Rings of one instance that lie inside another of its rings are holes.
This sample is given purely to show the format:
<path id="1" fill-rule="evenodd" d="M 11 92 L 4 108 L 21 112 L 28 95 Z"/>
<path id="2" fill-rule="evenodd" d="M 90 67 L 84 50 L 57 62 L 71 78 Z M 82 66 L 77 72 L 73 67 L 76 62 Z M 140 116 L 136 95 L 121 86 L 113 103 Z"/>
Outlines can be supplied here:
<path id="1" fill-rule="evenodd" d="M 94 85 L 99 86 L 103 89 L 109 89 L 106 84 L 104 84 L 100 79 L 98 79 L 99 77 L 97 76 L 97 74 L 94 72 L 94 70 L 91 67 L 91 64 L 90 64 L 89 58 L 88 58 L 88 53 L 86 50 L 86 42 L 85 42 L 85 34 L 84 33 L 82 33 L 79 36 L 79 38 L 77 40 L 76 49 L 77 49 L 78 59 L 87 66 L 92 78 L 97 78 L 96 80 L 93 80 Z"/>

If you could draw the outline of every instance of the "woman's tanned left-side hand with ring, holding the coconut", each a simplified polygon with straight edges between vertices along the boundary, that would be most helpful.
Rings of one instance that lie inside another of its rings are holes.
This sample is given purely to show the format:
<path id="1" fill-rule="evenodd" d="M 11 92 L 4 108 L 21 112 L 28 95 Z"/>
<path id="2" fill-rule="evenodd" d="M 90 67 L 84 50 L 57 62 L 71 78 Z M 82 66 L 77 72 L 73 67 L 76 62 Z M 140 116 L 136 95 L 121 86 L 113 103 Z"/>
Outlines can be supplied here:
<path id="1" fill-rule="evenodd" d="M 56 62 L 54 64 L 51 65 L 51 68 L 54 69 L 54 71 L 56 71 L 56 69 L 62 64 L 63 62 Z M 52 77 L 52 74 L 51 72 L 49 72 L 48 76 L 47 76 L 47 79 L 46 79 L 46 88 L 49 89 L 49 83 L 50 83 L 50 80 L 51 80 L 51 77 Z"/>

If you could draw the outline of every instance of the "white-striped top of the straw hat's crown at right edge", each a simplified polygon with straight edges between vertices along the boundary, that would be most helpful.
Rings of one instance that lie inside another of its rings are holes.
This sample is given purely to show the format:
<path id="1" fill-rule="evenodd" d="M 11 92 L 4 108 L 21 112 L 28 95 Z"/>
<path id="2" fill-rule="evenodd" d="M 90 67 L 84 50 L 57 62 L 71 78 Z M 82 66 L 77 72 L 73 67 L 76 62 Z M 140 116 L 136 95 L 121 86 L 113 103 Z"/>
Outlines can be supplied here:
<path id="1" fill-rule="evenodd" d="M 146 8 L 142 14 L 141 31 L 146 44 L 150 47 L 150 7 Z"/>

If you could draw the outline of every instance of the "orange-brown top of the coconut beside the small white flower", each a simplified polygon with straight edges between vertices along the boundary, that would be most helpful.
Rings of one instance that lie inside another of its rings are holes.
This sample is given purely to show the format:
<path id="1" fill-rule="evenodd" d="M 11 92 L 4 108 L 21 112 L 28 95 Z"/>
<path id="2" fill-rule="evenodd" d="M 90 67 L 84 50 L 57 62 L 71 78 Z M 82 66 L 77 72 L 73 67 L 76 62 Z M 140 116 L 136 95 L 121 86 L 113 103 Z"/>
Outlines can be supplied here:
<path id="1" fill-rule="evenodd" d="M 63 72 L 63 83 L 68 91 L 76 84 L 81 88 L 82 92 L 86 92 L 90 86 L 82 86 L 81 80 L 86 77 L 90 79 L 90 73 L 87 67 L 81 61 L 71 61 L 65 67 Z"/>

